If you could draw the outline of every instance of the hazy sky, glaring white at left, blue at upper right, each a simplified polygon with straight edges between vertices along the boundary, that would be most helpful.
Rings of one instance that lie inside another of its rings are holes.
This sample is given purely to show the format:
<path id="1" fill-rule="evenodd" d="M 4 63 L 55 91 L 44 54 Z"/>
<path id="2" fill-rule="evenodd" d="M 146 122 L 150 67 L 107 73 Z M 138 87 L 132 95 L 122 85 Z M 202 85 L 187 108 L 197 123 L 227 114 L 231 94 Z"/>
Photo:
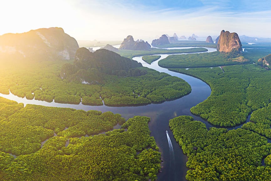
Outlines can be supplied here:
<path id="1" fill-rule="evenodd" d="M 77 40 L 152 40 L 162 34 L 271 38 L 271 0 L 6 0 L 0 35 L 62 27 Z M 216 38 L 216 37 L 213 37 Z"/>

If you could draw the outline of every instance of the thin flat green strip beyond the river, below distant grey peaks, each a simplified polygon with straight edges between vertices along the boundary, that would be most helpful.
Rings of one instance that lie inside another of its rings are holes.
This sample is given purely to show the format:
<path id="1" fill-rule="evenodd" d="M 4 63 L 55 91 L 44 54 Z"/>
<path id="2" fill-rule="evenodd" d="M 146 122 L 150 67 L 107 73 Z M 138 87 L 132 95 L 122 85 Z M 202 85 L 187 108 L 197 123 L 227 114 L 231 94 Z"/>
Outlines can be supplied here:
<path id="1" fill-rule="evenodd" d="M 141 51 L 141 50 L 119 50 L 117 53 L 122 57 L 127 57 L 132 59 L 137 56 L 144 55 L 155 55 L 155 54 L 174 54 L 174 53 L 196 53 L 196 52 L 207 52 L 206 48 L 189 48 L 189 49 L 175 49 L 175 50 L 166 50 L 163 48 L 151 48 L 150 51 Z"/>

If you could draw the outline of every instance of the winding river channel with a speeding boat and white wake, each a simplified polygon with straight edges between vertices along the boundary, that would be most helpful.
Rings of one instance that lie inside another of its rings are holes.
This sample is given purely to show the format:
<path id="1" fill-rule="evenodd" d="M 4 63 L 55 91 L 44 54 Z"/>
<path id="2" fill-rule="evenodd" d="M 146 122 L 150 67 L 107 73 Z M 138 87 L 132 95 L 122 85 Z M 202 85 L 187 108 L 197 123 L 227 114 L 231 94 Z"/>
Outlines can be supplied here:
<path id="1" fill-rule="evenodd" d="M 182 49 L 185 47 L 178 47 L 175 49 Z M 215 48 L 206 48 L 208 52 L 216 51 Z M 169 54 L 159 54 L 161 59 L 166 58 Z M 154 136 L 155 141 L 159 147 L 159 151 L 162 154 L 162 171 L 158 174 L 159 181 L 179 181 L 186 180 L 185 175 L 188 168 L 185 166 L 187 162 L 187 156 L 183 153 L 179 144 L 175 141 L 172 132 L 169 129 L 169 119 L 174 118 L 180 115 L 189 115 L 194 117 L 195 120 L 201 121 L 206 124 L 207 128 L 213 127 L 210 123 L 203 120 L 199 116 L 195 116 L 190 112 L 190 108 L 197 105 L 198 103 L 207 99 L 211 94 L 211 88 L 205 82 L 196 79 L 194 77 L 171 72 L 168 69 L 164 69 L 158 66 L 158 61 L 155 61 L 151 64 L 148 64 L 142 60 L 142 56 L 134 57 L 133 60 L 136 60 L 144 67 L 148 67 L 151 69 L 155 69 L 159 72 L 165 72 L 172 76 L 177 76 L 181 79 L 184 79 L 191 85 L 192 91 L 190 94 L 181 97 L 179 99 L 173 101 L 165 101 L 160 104 L 149 104 L 144 106 L 135 106 L 135 107 L 108 107 L 108 106 L 86 106 L 82 105 L 73 105 L 73 104 L 60 104 L 53 102 L 45 102 L 45 101 L 37 101 L 37 100 L 27 100 L 26 98 L 20 98 L 12 95 L 3 95 L 0 96 L 8 98 L 10 100 L 14 100 L 17 102 L 22 102 L 24 105 L 26 104 L 36 104 L 50 107 L 69 107 L 74 109 L 83 109 L 85 111 L 88 110 L 99 110 L 102 112 L 111 111 L 113 113 L 120 113 L 122 117 L 128 119 L 135 115 L 147 116 L 151 118 L 149 123 L 149 129 L 151 130 L 151 136 Z M 249 121 L 250 116 L 247 119 Z M 242 125 L 237 125 L 235 127 L 231 127 L 229 129 L 237 129 Z M 168 130 L 168 134 L 166 131 Z M 171 141 L 170 141 L 171 140 Z M 169 143 L 171 145 L 169 145 Z M 172 154 L 172 151 L 173 154 Z"/>

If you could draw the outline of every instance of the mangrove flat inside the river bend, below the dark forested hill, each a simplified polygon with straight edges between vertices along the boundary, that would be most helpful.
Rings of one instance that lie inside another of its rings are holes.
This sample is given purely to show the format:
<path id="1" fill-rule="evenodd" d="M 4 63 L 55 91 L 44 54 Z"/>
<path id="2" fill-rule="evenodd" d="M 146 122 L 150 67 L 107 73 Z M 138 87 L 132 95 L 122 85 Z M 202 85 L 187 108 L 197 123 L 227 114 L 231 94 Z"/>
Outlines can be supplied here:
<path id="1" fill-rule="evenodd" d="M 36 100 L 48 102 L 55 99 L 55 102 L 78 104 L 82 98 L 82 103 L 85 105 L 102 105 L 102 99 L 106 105 L 146 104 L 178 98 L 191 92 L 190 85 L 180 78 L 144 67 L 133 69 L 130 73 L 137 74 L 137 70 L 147 74 L 137 77 L 107 75 L 104 76 L 102 85 L 69 82 L 55 75 L 44 78 L 34 74 L 30 77 L 26 73 L 16 78 L 19 85 L 11 83 L 13 85 L 10 86 L 10 90 L 20 97 L 33 92 Z M 9 77 L 11 82 L 14 80 L 13 76 Z M 6 81 L 9 79 L 7 78 Z"/>

